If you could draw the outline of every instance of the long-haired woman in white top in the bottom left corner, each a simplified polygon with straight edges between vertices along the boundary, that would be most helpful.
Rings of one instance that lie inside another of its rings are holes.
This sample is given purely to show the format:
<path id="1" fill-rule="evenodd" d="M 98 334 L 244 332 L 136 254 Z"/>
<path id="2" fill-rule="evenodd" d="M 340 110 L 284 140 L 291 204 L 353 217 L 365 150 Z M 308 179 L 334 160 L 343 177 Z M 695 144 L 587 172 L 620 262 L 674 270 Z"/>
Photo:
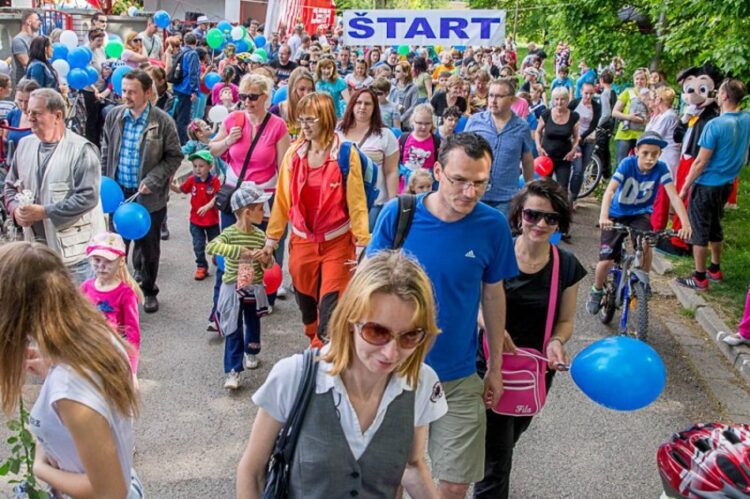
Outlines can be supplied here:
<path id="1" fill-rule="evenodd" d="M 125 345 L 47 246 L 0 247 L 0 400 L 16 409 L 26 373 L 33 472 L 54 497 L 143 497 L 133 466 L 138 400 Z"/>

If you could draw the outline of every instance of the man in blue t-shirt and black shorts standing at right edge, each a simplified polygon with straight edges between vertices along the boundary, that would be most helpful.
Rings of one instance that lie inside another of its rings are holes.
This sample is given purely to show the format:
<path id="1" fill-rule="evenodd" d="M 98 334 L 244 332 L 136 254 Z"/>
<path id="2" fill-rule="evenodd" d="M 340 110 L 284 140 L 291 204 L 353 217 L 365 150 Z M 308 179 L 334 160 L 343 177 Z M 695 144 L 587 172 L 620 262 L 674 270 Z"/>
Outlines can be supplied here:
<path id="1" fill-rule="evenodd" d="M 721 217 L 732 192 L 734 179 L 747 163 L 750 148 L 750 113 L 740 111 L 747 89 L 740 80 L 729 78 L 719 87 L 717 102 L 721 116 L 709 121 L 698 140 L 700 150 L 695 158 L 680 197 L 690 195 L 688 216 L 693 224 L 693 260 L 695 271 L 677 279 L 677 284 L 704 291 L 708 281 L 721 282 L 721 250 L 724 232 Z M 711 265 L 706 268 L 708 246 Z"/>

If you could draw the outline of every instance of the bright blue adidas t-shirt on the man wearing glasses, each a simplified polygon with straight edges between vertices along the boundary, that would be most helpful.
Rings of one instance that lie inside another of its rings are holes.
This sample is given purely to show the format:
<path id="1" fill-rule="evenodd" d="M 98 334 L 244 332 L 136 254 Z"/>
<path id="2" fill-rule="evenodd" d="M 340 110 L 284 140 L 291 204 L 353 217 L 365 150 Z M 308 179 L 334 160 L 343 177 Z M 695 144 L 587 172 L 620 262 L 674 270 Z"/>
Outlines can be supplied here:
<path id="1" fill-rule="evenodd" d="M 431 194 L 437 195 L 437 194 Z M 456 222 L 443 222 L 427 210 L 425 194 L 417 196 L 403 249 L 413 255 L 432 281 L 441 329 L 427 364 L 441 381 L 477 372 L 477 311 L 482 283 L 494 284 L 518 274 L 513 239 L 505 217 L 478 203 Z M 390 249 L 396 233 L 398 200 L 380 213 L 367 255 Z"/>

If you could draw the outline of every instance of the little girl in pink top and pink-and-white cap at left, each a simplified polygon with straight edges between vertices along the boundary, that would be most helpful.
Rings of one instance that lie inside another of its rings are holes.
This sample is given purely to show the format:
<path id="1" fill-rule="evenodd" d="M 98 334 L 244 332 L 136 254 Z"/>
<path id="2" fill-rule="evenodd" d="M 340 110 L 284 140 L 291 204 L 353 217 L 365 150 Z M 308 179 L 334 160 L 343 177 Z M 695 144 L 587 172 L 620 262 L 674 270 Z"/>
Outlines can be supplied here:
<path id="1" fill-rule="evenodd" d="M 141 348 L 138 303 L 143 301 L 143 293 L 128 272 L 125 242 L 119 234 L 102 232 L 91 240 L 86 255 L 95 276 L 81 285 L 81 291 L 130 346 L 128 360 L 137 387 Z"/>

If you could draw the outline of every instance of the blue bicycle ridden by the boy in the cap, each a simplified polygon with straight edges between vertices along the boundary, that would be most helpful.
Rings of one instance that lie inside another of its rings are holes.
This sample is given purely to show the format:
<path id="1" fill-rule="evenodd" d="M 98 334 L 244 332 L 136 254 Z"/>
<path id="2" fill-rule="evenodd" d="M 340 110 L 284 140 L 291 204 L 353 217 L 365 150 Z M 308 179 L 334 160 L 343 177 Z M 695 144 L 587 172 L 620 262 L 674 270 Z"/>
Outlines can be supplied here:
<path id="1" fill-rule="evenodd" d="M 658 239 L 673 237 L 677 233 L 671 230 L 642 231 L 622 224 L 614 224 L 611 230 L 625 233 L 628 237 L 623 238 L 620 243 L 619 261 L 615 261 L 607 274 L 602 307 L 598 314 L 599 320 L 602 324 L 609 324 L 617 309 L 621 308 L 619 333 L 647 341 L 648 300 L 651 295 L 651 285 L 648 272 L 641 268 L 644 244 L 653 246 Z M 626 249 L 627 240 L 634 241 L 632 252 Z M 632 322 L 628 324 L 631 309 L 636 311 L 635 324 Z"/>

